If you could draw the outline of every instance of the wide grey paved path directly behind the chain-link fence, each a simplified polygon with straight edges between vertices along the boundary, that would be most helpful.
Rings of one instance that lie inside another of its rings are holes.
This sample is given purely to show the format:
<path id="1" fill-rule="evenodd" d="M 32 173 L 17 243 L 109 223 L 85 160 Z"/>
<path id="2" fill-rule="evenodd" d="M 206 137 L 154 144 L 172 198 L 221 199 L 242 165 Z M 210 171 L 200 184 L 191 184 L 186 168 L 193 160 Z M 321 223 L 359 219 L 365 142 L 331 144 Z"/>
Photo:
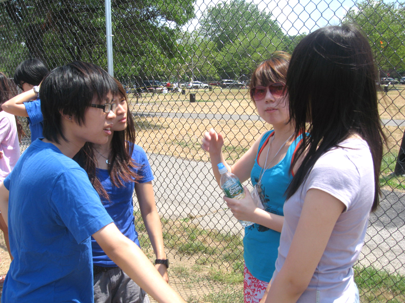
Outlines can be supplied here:
<path id="1" fill-rule="evenodd" d="M 162 216 L 188 217 L 200 228 L 244 234 L 221 198 L 210 163 L 154 154 L 148 157 L 155 175 L 157 208 Z M 360 264 L 405 274 L 404 222 L 405 193 L 384 191 L 381 208 L 370 217 Z"/>

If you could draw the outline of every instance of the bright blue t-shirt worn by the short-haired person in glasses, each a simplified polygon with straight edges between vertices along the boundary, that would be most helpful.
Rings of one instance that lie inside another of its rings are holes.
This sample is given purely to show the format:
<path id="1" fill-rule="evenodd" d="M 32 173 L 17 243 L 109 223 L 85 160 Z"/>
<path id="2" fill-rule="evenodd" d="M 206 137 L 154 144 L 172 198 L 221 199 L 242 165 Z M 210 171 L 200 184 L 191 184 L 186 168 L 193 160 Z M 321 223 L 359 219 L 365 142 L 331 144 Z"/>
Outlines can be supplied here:
<path id="1" fill-rule="evenodd" d="M 90 236 L 112 219 L 86 172 L 36 140 L 4 184 L 14 260 L 2 302 L 93 302 Z"/>

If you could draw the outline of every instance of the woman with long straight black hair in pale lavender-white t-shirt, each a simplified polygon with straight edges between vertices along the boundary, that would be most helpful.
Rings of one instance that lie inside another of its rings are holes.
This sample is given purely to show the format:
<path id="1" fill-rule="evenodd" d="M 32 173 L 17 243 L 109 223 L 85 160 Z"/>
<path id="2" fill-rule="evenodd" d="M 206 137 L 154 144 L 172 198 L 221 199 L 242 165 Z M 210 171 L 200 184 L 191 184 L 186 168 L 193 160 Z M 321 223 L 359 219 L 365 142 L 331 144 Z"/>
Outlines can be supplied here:
<path id="1" fill-rule="evenodd" d="M 379 205 L 383 150 L 369 41 L 352 26 L 320 28 L 294 49 L 290 117 L 308 131 L 287 189 L 275 271 L 262 302 L 358 302 L 352 266 Z"/>

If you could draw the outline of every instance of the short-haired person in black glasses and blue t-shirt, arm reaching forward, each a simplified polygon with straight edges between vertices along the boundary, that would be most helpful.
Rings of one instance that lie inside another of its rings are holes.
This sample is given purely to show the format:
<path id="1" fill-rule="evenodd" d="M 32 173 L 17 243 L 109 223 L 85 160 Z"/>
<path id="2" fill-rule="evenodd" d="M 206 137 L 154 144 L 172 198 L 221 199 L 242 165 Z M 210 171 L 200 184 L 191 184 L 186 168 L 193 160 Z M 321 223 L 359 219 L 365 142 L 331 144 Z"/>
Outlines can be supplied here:
<path id="1" fill-rule="evenodd" d="M 112 77 L 83 62 L 56 68 L 42 82 L 44 138 L 0 184 L 14 257 L 2 302 L 93 302 L 90 236 L 156 301 L 185 302 L 119 232 L 86 171 L 72 160 L 86 142 L 108 141 L 116 91 Z"/>

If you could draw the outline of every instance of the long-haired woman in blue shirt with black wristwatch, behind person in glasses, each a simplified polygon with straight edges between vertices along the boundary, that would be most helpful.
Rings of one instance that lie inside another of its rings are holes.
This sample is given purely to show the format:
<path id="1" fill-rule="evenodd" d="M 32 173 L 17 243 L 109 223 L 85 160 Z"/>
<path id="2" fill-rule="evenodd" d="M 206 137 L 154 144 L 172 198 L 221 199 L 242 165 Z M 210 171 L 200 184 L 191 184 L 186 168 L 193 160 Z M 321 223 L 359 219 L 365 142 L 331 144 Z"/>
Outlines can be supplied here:
<path id="1" fill-rule="evenodd" d="M 156 261 L 155 268 L 168 281 L 169 266 L 159 214 L 152 187 L 153 174 L 145 151 L 135 144 L 135 124 L 128 111 L 127 94 L 116 81 L 118 93 L 113 97 L 116 118 L 105 144 L 87 142 L 73 158 L 89 174 L 107 213 L 117 228 L 139 246 L 135 230 L 133 192 L 135 188 L 142 219 Z M 145 291 L 105 254 L 92 238 L 94 302 L 149 302 Z"/>

